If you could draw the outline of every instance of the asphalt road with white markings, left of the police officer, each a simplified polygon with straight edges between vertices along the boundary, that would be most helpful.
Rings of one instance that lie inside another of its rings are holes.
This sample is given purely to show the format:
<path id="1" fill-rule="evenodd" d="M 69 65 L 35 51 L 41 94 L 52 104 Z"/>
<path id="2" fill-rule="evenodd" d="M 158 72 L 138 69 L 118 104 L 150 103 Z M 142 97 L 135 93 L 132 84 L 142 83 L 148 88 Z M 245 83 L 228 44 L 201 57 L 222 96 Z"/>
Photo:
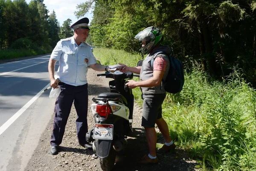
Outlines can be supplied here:
<path id="1" fill-rule="evenodd" d="M 52 119 L 49 57 L 0 64 L 0 171 L 23 171 Z"/>

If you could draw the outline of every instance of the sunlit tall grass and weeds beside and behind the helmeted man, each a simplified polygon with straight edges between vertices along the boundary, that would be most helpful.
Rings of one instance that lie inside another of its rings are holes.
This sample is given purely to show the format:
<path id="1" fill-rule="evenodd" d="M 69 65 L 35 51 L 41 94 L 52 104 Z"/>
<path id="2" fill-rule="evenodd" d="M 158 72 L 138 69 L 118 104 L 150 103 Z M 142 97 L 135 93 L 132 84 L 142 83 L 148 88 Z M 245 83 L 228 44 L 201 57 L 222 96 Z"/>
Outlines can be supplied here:
<path id="1" fill-rule="evenodd" d="M 141 59 L 139 54 L 103 48 L 94 49 L 94 55 L 105 65 L 136 66 Z M 255 90 L 237 67 L 223 82 L 212 80 L 196 65 L 190 70 L 183 90 L 167 93 L 163 103 L 172 139 L 201 163 L 203 171 L 256 170 Z M 142 104 L 140 89 L 133 93 Z"/>

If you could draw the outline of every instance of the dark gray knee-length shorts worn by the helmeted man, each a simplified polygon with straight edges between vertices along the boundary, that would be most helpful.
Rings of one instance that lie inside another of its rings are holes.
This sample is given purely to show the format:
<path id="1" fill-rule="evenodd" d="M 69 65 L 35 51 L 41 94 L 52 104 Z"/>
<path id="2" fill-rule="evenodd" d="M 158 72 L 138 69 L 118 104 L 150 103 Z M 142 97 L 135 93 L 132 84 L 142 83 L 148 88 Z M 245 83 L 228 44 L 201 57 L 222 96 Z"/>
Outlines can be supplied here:
<path id="1" fill-rule="evenodd" d="M 166 94 L 143 98 L 143 113 L 141 126 L 154 128 L 157 119 L 162 118 L 162 104 Z"/>

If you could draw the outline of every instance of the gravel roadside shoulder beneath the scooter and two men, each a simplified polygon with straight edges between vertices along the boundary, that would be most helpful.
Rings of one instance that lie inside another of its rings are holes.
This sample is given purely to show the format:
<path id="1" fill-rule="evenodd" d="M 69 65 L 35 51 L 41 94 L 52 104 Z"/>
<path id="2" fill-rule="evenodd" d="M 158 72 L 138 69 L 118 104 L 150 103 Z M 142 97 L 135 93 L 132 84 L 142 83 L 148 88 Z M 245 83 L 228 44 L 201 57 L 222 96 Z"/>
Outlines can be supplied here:
<path id="1" fill-rule="evenodd" d="M 88 92 L 89 106 L 91 99 L 100 93 L 108 92 L 108 81 L 110 78 L 97 77 L 92 69 L 88 70 Z M 52 109 L 53 111 L 53 109 Z M 116 157 L 114 171 L 192 171 L 196 162 L 186 157 L 186 152 L 177 148 L 176 154 L 159 155 L 159 164 L 141 166 L 136 162 L 144 154 L 148 153 L 145 141 L 144 128 L 141 127 L 142 109 L 134 105 L 134 124 L 131 137 L 128 137 L 128 146 Z M 52 121 L 54 114 L 52 113 Z M 63 141 L 60 145 L 58 155 L 52 156 L 49 153 L 49 140 L 52 132 L 52 121 L 48 123 L 47 130 L 41 136 L 33 157 L 28 162 L 25 171 L 102 171 L 99 166 L 99 158 L 93 159 L 93 151 L 84 150 L 79 146 L 76 138 L 76 111 L 74 106 L 66 125 Z M 88 109 L 88 128 L 92 128 L 93 118 L 90 107 Z M 163 137 L 159 136 L 158 142 L 163 143 Z M 17 169 L 18 170 L 18 169 Z"/>

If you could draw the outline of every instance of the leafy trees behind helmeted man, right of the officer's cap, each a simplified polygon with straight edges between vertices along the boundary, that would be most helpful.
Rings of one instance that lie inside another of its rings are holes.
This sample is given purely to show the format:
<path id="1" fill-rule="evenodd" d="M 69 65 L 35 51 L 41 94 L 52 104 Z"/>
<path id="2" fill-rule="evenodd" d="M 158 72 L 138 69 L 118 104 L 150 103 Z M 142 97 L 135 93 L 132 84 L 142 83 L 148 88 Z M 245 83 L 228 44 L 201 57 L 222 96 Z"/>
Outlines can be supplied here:
<path id="1" fill-rule="evenodd" d="M 90 2 L 80 4 L 82 14 L 92 7 Z M 245 71 L 243 77 L 255 86 L 255 2 L 96 0 L 91 41 L 97 47 L 137 52 L 137 32 L 157 26 L 163 31 L 163 43 L 172 47 L 186 67 L 193 67 L 196 60 L 204 71 L 221 80 L 238 64 Z"/>

